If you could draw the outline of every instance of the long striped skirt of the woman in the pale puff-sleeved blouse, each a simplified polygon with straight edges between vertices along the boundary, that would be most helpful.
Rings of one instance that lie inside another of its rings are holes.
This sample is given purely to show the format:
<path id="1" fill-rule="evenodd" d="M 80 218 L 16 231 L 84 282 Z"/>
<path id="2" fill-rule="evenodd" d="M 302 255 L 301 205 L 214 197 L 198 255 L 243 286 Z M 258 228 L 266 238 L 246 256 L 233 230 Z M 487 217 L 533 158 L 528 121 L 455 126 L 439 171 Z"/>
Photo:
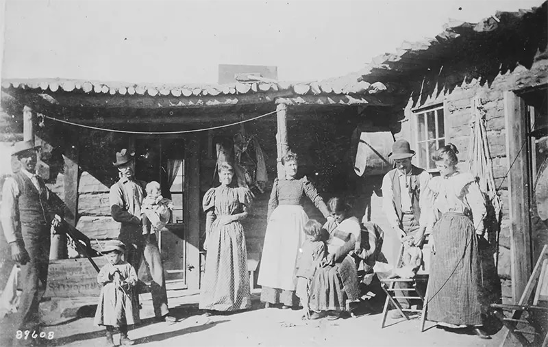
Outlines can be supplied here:
<path id="1" fill-rule="evenodd" d="M 447 213 L 432 230 L 427 319 L 455 325 L 482 324 L 481 272 L 474 225 L 464 214 Z"/>

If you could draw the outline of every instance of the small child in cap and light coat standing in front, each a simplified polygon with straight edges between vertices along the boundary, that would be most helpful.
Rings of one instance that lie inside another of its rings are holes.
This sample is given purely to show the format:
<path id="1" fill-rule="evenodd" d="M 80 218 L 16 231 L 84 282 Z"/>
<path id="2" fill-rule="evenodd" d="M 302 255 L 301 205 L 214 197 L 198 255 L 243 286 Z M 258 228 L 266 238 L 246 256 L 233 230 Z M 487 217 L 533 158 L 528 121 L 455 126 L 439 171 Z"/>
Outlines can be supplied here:
<path id="1" fill-rule="evenodd" d="M 108 263 L 97 274 L 97 282 L 101 285 L 99 305 L 95 312 L 95 324 L 105 326 L 107 346 L 115 346 L 112 339 L 114 328 L 120 329 L 120 344 L 134 344 L 127 337 L 127 326 L 138 324 L 139 309 L 133 289 L 137 284 L 135 268 L 122 260 L 125 244 L 112 240 L 105 244 L 101 253 Z"/>

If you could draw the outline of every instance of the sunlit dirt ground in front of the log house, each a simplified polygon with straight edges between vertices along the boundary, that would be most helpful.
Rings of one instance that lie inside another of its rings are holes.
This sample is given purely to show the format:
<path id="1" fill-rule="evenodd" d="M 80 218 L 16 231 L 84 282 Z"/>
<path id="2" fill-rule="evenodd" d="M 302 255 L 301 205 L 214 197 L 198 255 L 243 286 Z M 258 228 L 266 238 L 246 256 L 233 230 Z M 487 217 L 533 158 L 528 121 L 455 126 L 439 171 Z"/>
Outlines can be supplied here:
<path id="1" fill-rule="evenodd" d="M 148 296 L 147 296 L 148 295 Z M 502 332 L 493 339 L 449 333 L 427 322 L 420 332 L 419 319 L 388 318 L 381 329 L 382 305 L 375 312 L 358 307 L 356 318 L 303 321 L 301 311 L 264 309 L 259 293 L 253 293 L 250 311 L 227 316 L 206 317 L 198 309 L 199 294 L 185 290 L 169 291 L 171 313 L 175 324 L 153 322 L 149 294 L 142 294 L 142 324 L 129 331 L 138 346 L 499 346 Z M 104 331 L 93 324 L 95 306 L 92 300 L 51 300 L 42 303 L 44 331 L 52 332 L 53 346 L 101 346 Z M 88 304 L 88 305 L 86 305 Z M 12 317 L 1 320 L 1 346 L 9 346 L 7 332 Z M 114 342 L 119 342 L 116 334 Z"/>

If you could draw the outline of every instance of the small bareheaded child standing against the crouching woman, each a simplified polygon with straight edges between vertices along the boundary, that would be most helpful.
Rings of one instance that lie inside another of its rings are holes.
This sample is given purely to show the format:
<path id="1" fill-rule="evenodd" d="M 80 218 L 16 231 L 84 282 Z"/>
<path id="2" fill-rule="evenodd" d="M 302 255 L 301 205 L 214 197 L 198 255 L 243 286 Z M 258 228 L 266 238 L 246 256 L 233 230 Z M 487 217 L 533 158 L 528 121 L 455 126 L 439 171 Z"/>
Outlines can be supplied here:
<path id="1" fill-rule="evenodd" d="M 316 268 L 318 268 L 327 256 L 327 231 L 323 230 L 321 224 L 314 219 L 308 220 L 304 226 L 305 242 L 300 249 L 297 259 L 297 291 L 296 294 L 301 299 L 303 318 L 310 318 L 310 309 L 308 309 L 308 290 L 310 281 L 314 277 Z"/>

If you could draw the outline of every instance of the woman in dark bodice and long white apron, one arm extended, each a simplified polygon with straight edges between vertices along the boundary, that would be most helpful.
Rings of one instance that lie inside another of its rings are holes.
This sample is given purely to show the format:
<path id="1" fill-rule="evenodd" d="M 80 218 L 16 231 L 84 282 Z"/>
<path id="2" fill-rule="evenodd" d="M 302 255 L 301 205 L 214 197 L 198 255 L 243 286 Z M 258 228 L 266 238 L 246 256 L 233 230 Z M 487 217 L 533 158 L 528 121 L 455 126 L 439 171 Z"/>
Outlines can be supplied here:
<path id="1" fill-rule="evenodd" d="M 262 285 L 261 301 L 266 307 L 282 304 L 282 309 L 287 309 L 299 304 L 295 295 L 295 266 L 308 221 L 302 207 L 303 197 L 308 196 L 325 218 L 329 212 L 314 185 L 306 177 L 297 179 L 297 155 L 288 151 L 282 164 L 286 179 L 275 179 L 272 187 L 257 282 Z"/>

